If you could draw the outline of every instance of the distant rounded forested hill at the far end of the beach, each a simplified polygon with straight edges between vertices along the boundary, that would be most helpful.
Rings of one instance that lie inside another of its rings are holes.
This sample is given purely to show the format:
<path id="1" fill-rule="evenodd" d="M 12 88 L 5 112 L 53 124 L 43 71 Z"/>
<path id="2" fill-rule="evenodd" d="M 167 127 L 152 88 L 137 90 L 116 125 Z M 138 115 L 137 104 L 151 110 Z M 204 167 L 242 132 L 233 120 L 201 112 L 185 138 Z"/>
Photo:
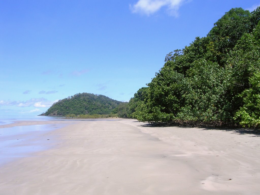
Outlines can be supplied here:
<path id="1" fill-rule="evenodd" d="M 110 114 L 122 103 L 104 95 L 79 93 L 54 103 L 44 114 L 66 116 L 68 114 Z"/>

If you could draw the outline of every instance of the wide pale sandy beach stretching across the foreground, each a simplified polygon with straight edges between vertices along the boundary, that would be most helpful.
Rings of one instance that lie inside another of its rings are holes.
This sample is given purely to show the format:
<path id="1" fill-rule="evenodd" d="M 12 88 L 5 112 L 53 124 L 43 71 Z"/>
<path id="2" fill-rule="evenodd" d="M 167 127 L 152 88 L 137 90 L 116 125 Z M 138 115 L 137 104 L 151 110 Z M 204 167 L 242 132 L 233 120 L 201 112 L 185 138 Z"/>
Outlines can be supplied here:
<path id="1" fill-rule="evenodd" d="M 252 132 L 131 119 L 22 121 L 0 128 L 39 123 L 66 126 L 38 136 L 52 141 L 48 150 L 0 167 L 1 195 L 260 192 L 260 136 Z"/>

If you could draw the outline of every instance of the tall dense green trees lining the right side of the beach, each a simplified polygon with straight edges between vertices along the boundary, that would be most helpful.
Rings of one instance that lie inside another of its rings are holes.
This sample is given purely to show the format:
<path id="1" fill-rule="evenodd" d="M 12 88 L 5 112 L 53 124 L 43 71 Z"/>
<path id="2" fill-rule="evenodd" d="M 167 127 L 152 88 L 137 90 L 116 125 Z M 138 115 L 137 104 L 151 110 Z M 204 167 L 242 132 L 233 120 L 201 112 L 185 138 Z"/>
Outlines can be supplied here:
<path id="1" fill-rule="evenodd" d="M 144 122 L 260 126 L 260 9 L 231 9 L 196 37 L 126 106 Z"/>

